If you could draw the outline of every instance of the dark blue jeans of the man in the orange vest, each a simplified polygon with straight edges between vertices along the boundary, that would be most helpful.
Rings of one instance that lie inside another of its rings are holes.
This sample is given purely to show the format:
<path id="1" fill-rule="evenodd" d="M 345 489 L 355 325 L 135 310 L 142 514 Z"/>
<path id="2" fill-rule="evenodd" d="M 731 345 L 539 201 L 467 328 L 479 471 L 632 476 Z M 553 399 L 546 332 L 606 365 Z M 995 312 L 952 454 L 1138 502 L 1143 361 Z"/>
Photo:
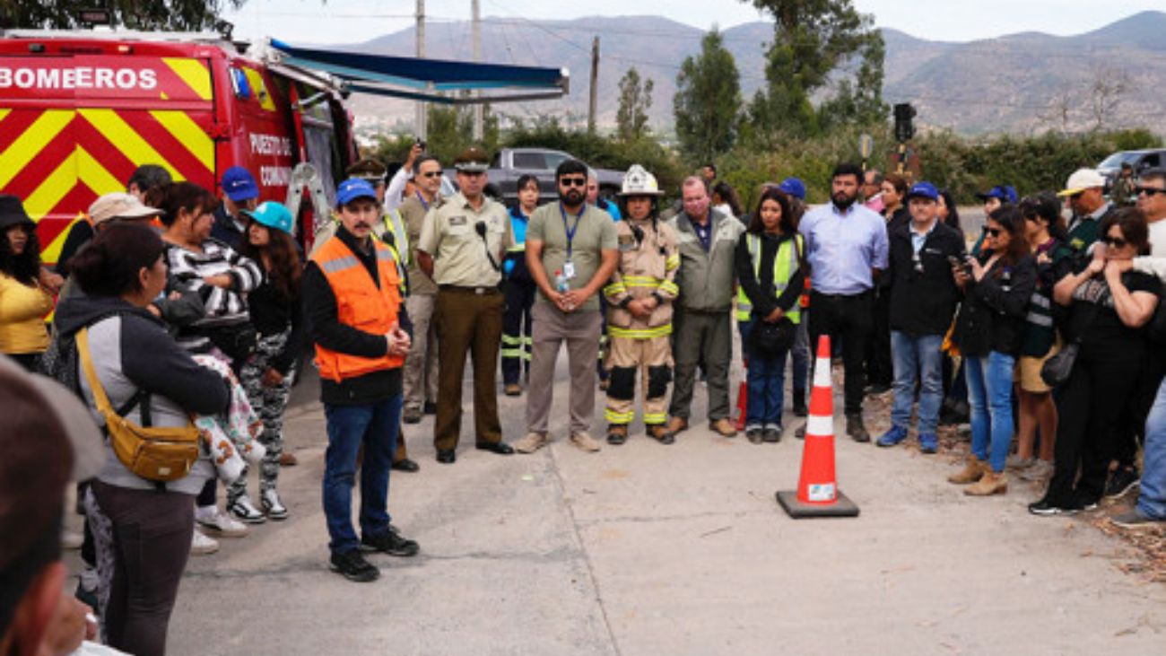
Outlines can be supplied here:
<path id="1" fill-rule="evenodd" d="M 366 536 L 388 530 L 388 472 L 401 421 L 401 395 L 367 405 L 324 404 L 328 449 L 324 452 L 324 517 L 328 547 L 343 553 L 360 546 L 352 530 L 352 486 L 357 453 L 360 465 L 360 531 Z"/>

